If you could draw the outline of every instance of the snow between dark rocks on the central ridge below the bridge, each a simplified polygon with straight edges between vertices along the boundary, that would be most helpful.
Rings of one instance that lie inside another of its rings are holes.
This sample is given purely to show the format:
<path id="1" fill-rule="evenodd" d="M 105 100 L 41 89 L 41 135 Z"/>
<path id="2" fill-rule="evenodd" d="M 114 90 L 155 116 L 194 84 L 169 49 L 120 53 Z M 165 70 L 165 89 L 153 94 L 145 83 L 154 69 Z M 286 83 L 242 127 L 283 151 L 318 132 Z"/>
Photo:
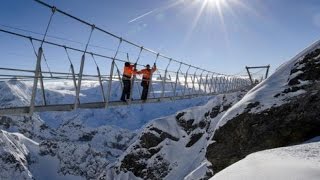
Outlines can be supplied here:
<path id="1" fill-rule="evenodd" d="M 156 128 L 162 132 L 165 132 L 178 140 L 171 140 L 169 138 L 164 139 L 159 143 L 154 149 L 160 149 L 155 155 L 149 159 L 141 159 L 139 161 L 145 161 L 148 167 L 156 166 L 159 163 L 168 163 L 167 167 L 170 169 L 168 174 L 163 178 L 166 180 L 175 180 L 175 179 L 193 179 L 197 176 L 204 177 L 206 172 L 210 171 L 208 166 L 210 163 L 206 160 L 205 154 L 208 145 L 208 140 L 211 137 L 214 127 L 217 124 L 218 120 L 224 114 L 224 107 L 231 106 L 241 99 L 244 92 L 229 93 L 225 95 L 218 95 L 209 100 L 205 105 L 191 107 L 183 111 L 178 111 L 176 115 L 171 115 L 167 117 L 161 117 L 149 122 L 144 130 L 139 134 L 137 140 L 130 145 L 130 147 L 123 153 L 119 158 L 118 163 L 115 164 L 116 167 L 121 166 L 122 160 L 128 154 L 140 154 L 148 151 L 148 149 L 138 148 L 140 146 L 140 137 L 146 133 L 152 133 L 155 136 L 160 136 L 157 131 L 152 129 Z M 207 112 L 210 112 L 213 107 L 218 107 L 219 114 L 210 119 L 210 117 L 205 117 Z M 206 127 L 200 128 L 197 127 L 190 132 L 187 132 L 181 125 L 178 124 L 176 120 L 177 114 L 183 113 L 183 116 L 180 119 L 185 121 L 193 120 L 192 125 L 198 125 L 200 122 L 208 123 Z M 210 123 L 209 123 L 210 121 Z M 201 138 L 195 142 L 190 147 L 186 145 L 190 142 L 192 135 L 203 134 Z M 163 160 L 159 161 L 158 156 L 161 156 Z M 200 167 L 199 167 L 200 166 Z M 192 173 L 190 173 L 192 172 Z M 110 172 L 108 172 L 110 173 Z M 121 173 L 117 178 L 121 177 Z"/>

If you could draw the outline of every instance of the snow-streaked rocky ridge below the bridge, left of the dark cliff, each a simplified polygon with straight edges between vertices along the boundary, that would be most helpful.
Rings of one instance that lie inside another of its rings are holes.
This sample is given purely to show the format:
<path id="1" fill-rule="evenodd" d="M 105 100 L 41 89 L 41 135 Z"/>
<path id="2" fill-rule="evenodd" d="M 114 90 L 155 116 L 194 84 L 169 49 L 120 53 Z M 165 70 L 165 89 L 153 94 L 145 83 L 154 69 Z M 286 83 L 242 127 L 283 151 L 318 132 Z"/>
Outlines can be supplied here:
<path id="1" fill-rule="evenodd" d="M 183 179 L 201 164 L 199 176 L 210 177 L 204 156 L 213 127 L 243 95 L 219 95 L 204 106 L 152 121 L 112 167 L 115 173 L 105 172 L 101 179 L 127 179 L 124 173 L 142 179 Z"/>

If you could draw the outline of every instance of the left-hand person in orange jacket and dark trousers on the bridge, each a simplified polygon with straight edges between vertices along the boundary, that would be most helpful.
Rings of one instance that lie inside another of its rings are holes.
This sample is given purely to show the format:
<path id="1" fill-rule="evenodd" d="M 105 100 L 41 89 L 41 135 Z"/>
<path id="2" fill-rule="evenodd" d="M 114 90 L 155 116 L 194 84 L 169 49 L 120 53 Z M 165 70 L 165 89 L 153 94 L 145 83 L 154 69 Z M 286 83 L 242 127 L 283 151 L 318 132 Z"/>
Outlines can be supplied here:
<path id="1" fill-rule="evenodd" d="M 123 74 L 122 74 L 123 90 L 121 95 L 121 101 L 126 102 L 127 99 L 130 99 L 131 78 L 132 78 L 132 75 L 134 75 L 137 71 L 136 65 L 137 64 L 130 64 L 130 62 L 124 63 Z"/>

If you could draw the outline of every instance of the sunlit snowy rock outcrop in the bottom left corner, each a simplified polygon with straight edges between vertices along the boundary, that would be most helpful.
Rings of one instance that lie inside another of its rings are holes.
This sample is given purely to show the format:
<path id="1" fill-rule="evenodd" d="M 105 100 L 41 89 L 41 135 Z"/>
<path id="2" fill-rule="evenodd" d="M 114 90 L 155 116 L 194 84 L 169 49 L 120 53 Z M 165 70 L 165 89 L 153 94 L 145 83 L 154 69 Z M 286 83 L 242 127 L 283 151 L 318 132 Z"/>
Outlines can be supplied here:
<path id="1" fill-rule="evenodd" d="M 40 156 L 39 143 L 23 134 L 1 130 L 0 144 L 1 157 L 15 159 L 5 163 L 0 160 L 0 179 L 83 179 L 79 176 L 59 174 L 58 160 L 50 156 Z"/>

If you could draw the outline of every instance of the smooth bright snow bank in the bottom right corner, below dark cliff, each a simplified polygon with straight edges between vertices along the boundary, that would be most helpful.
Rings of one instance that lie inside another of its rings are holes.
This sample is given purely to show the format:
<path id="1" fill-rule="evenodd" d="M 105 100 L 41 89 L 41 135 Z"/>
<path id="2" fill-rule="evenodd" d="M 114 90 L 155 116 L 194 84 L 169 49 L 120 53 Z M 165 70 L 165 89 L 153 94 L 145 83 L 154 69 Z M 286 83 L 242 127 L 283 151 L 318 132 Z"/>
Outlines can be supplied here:
<path id="1" fill-rule="evenodd" d="M 210 180 L 320 179 L 320 142 L 253 153 Z"/>

